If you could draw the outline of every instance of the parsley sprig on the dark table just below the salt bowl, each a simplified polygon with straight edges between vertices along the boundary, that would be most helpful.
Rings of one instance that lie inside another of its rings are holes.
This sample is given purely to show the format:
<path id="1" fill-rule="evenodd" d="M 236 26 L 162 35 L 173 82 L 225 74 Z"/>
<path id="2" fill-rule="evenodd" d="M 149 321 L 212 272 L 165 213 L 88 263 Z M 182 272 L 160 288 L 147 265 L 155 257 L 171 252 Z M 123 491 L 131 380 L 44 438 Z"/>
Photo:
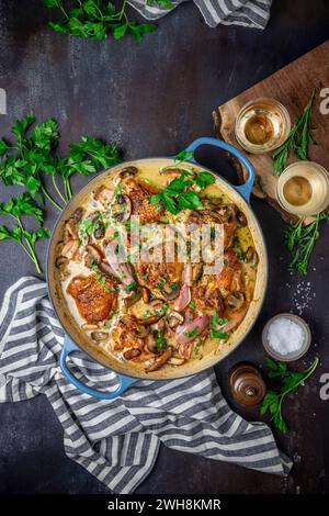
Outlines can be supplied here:
<path id="1" fill-rule="evenodd" d="M 268 391 L 260 407 L 260 414 L 271 414 L 275 428 L 285 434 L 288 429 L 287 423 L 282 415 L 282 405 L 285 396 L 298 390 L 300 383 L 305 382 L 317 369 L 319 359 L 316 357 L 309 368 L 304 371 L 293 372 L 287 368 L 286 362 L 276 362 L 272 358 L 266 358 L 266 366 L 270 368 L 269 377 L 280 379 L 282 386 L 279 392 Z"/>

